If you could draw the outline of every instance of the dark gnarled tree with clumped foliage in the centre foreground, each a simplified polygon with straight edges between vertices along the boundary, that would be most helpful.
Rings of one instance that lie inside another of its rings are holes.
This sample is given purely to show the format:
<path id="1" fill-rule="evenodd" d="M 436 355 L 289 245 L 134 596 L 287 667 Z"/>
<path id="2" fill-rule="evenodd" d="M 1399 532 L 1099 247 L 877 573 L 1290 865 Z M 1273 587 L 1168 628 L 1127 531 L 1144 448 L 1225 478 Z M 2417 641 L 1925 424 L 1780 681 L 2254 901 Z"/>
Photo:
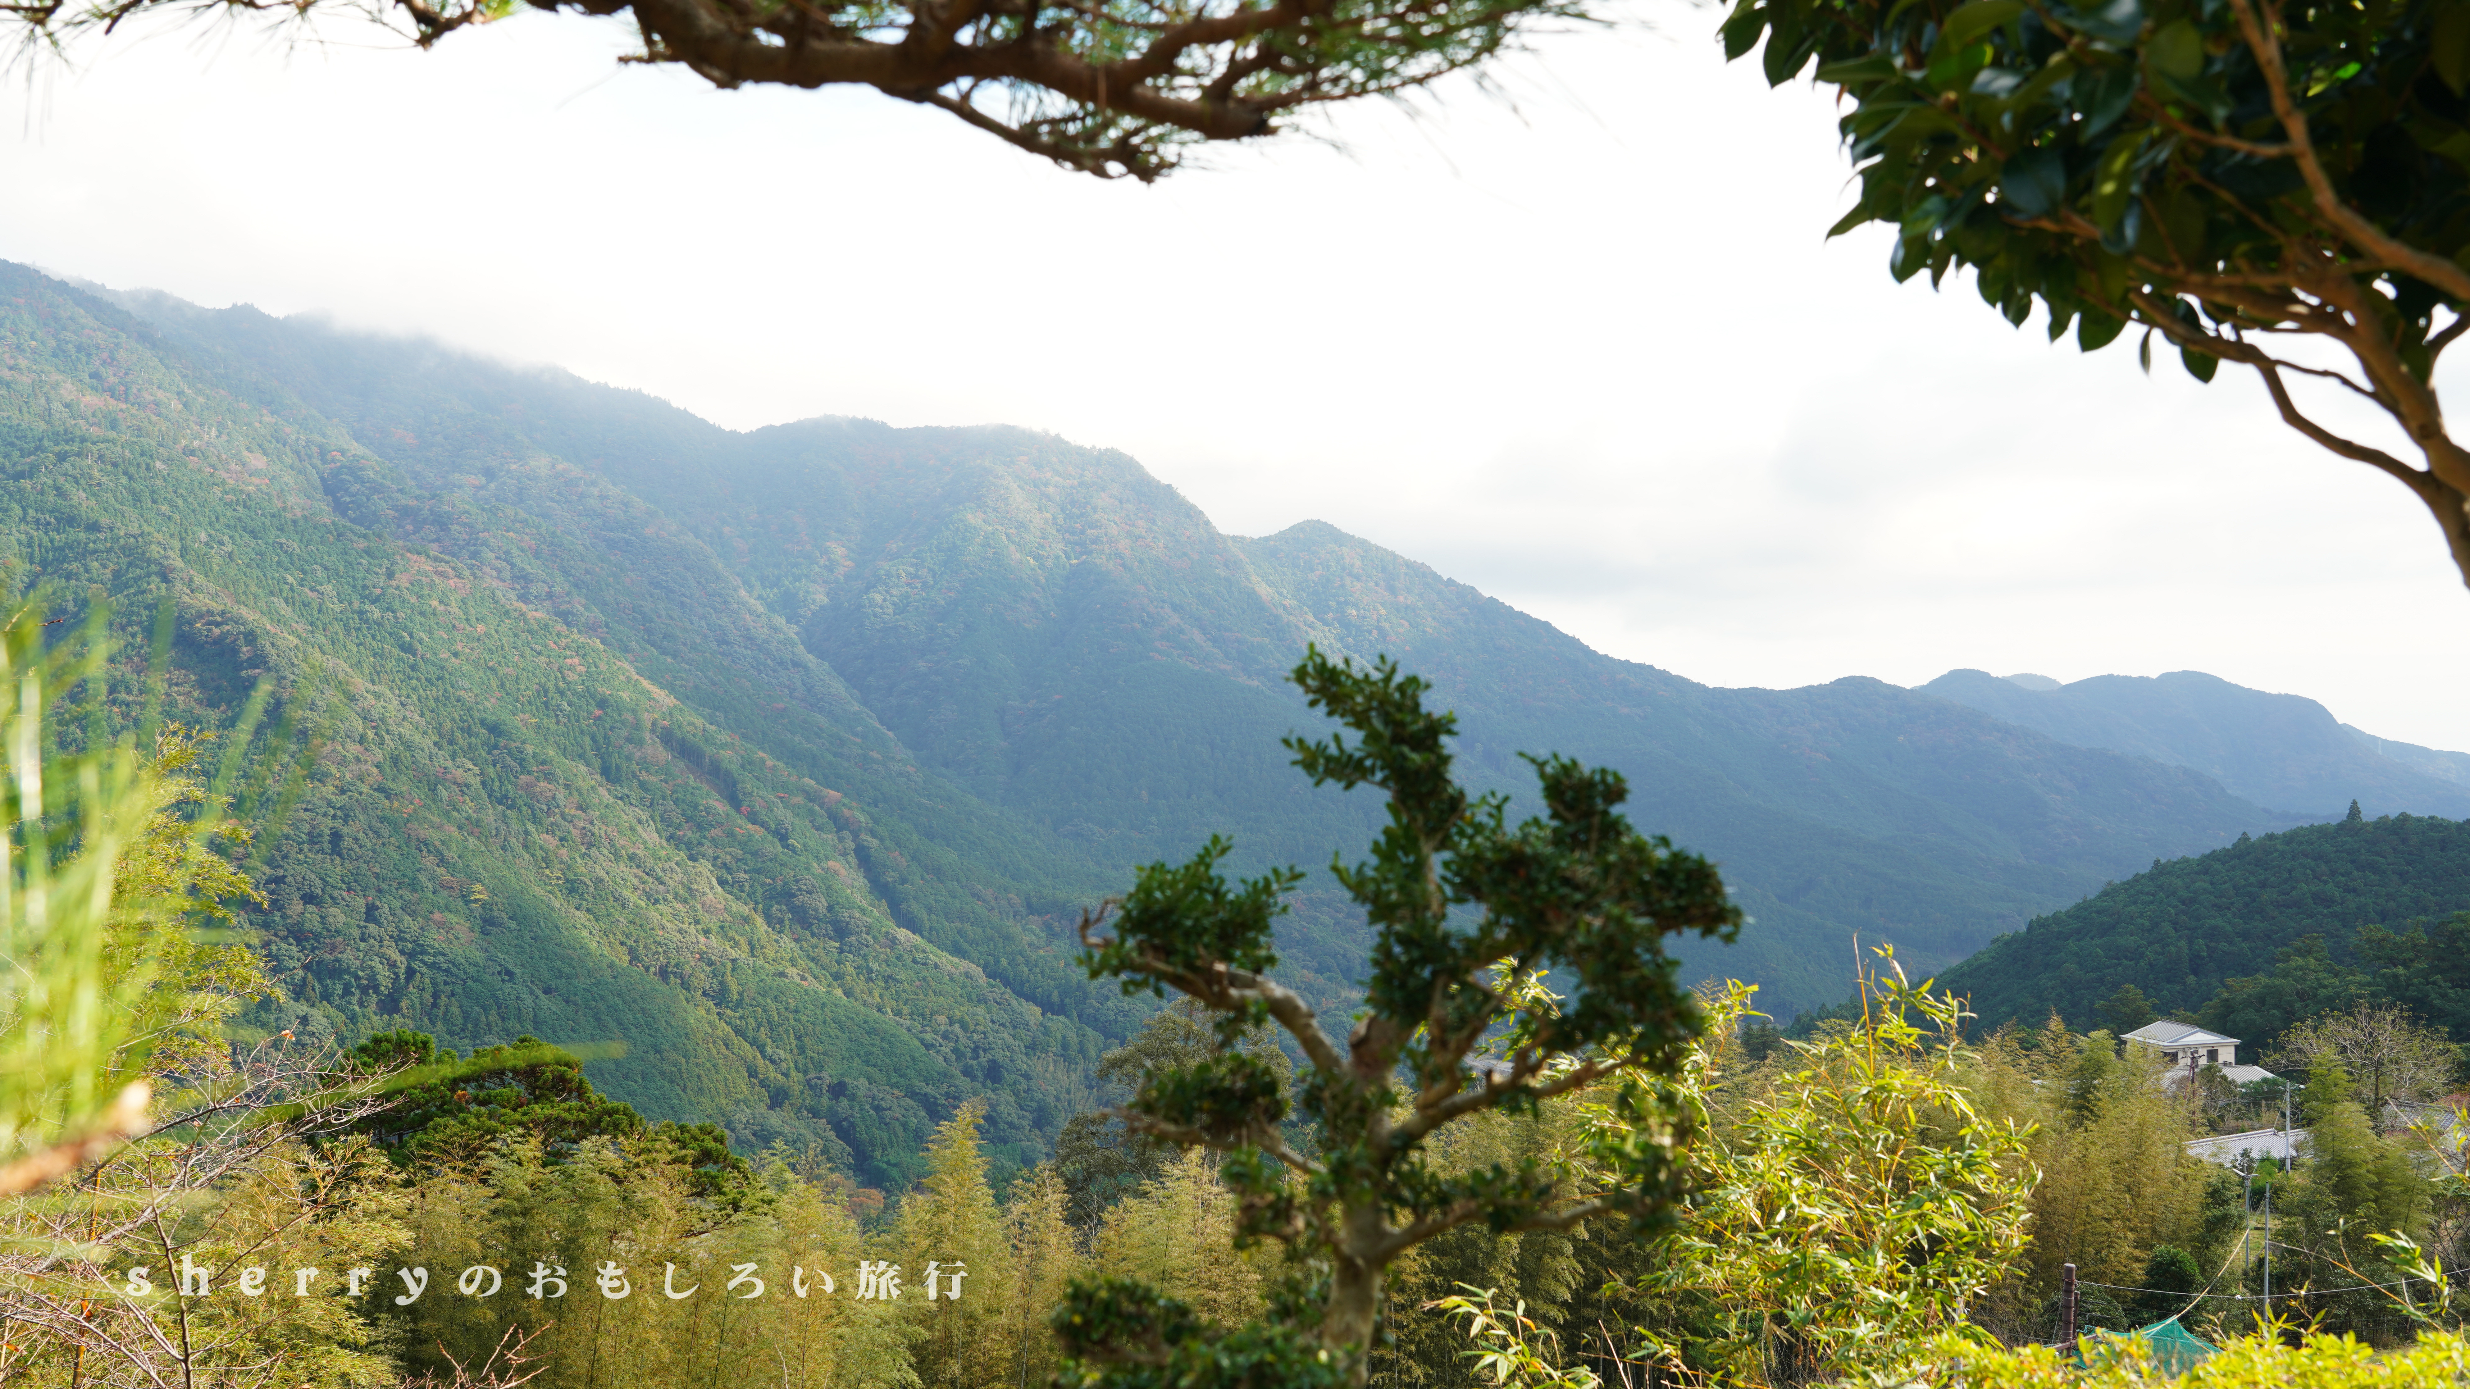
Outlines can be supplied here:
<path id="1" fill-rule="evenodd" d="M 1546 813 L 1512 825 L 1507 796 L 1472 796 L 1455 781 L 1457 719 L 1425 707 L 1423 680 L 1386 657 L 1366 670 L 1309 650 L 1294 682 L 1354 734 L 1287 739 L 1297 766 L 1317 783 L 1388 793 L 1371 858 L 1331 863 L 1373 929 L 1363 1008 L 1344 1050 L 1297 994 L 1265 979 L 1277 964 L 1277 897 L 1299 875 L 1272 870 L 1233 887 L 1218 875 L 1228 853 L 1218 838 L 1183 865 L 1144 868 L 1109 905 L 1119 910 L 1084 917 L 1082 959 L 1094 979 L 1203 1003 L 1220 1016 L 1223 1041 L 1277 1021 L 1302 1048 L 1297 1107 L 1319 1137 L 1317 1157 L 1284 1142 L 1284 1095 L 1245 1055 L 1153 1070 L 1129 1115 L 1171 1142 L 1228 1152 L 1240 1233 L 1284 1241 L 1329 1270 L 1317 1342 L 1361 1379 L 1383 1270 L 1415 1243 L 1457 1226 L 1564 1231 L 1618 1214 L 1660 1228 L 1670 1218 L 1682 1174 L 1665 1137 L 1687 1125 L 1652 1087 L 1680 1065 L 1702 1013 L 1677 984 L 1665 937 L 1729 937 L 1741 912 L 1707 860 L 1618 816 L 1628 796 L 1618 774 L 1529 759 Z M 1112 937 L 1097 934 L 1102 922 Z M 1546 971 L 1576 974 L 1568 998 L 1544 991 Z M 1484 1065 L 1470 1075 L 1470 1060 Z M 1628 1139 L 1598 1139 L 1593 1159 L 1608 1179 L 1596 1189 L 1571 1191 L 1564 1172 L 1531 1157 L 1462 1174 L 1425 1162 L 1428 1139 L 1460 1117 L 1529 1112 L 1593 1083 L 1633 1122 Z M 1403 1117 L 1393 1115 L 1400 1105 Z M 1176 1320 L 1173 1305 L 1116 1285 L 1084 1288 L 1072 1315 L 1087 1367 L 1240 1377 L 1255 1374 L 1255 1354 L 1289 1345 L 1287 1330 L 1270 1327 L 1223 1359 L 1223 1342 Z M 1203 1354 L 1193 1347 L 1210 1347 L 1205 1362 L 1181 1359 Z"/>

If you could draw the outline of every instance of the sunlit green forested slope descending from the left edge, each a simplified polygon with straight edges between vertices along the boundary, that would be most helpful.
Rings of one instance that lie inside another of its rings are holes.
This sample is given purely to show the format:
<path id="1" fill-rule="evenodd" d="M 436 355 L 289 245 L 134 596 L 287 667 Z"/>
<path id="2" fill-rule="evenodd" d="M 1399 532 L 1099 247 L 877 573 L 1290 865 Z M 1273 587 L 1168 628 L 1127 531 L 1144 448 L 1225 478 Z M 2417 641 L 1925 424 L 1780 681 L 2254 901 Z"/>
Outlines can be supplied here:
<path id="1" fill-rule="evenodd" d="M 262 1026 L 618 1038 L 595 1075 L 647 1112 L 877 1181 L 971 1095 L 1003 1154 L 1045 1149 L 1136 1023 L 1020 900 L 1070 860 L 916 769 L 795 640 L 766 652 L 776 623 L 726 576 L 664 591 L 692 541 L 637 568 L 477 489 L 417 492 L 225 366 L 0 267 L 0 571 L 99 588 L 136 630 L 168 598 L 180 717 L 227 727 L 272 677 L 321 732 L 259 870 L 289 991 Z"/>

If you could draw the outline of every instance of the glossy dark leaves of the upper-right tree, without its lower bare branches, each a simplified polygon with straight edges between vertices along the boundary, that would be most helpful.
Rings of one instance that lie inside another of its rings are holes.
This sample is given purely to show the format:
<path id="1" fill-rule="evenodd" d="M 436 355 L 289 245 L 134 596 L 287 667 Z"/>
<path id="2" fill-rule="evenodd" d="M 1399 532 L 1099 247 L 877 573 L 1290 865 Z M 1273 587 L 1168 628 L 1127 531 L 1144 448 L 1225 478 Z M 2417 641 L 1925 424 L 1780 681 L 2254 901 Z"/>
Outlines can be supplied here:
<path id="1" fill-rule="evenodd" d="M 2470 250 L 2470 232 L 2445 220 L 2465 188 L 2445 146 L 2463 114 L 2458 64 L 2435 54 L 2445 7 L 2275 15 L 2290 25 L 2285 44 L 2337 180 L 2438 255 Z M 1941 0 L 1882 20 L 1835 0 L 1744 0 L 1724 25 L 1727 52 L 1749 52 L 1761 32 L 1771 82 L 1815 57 L 1818 79 L 1853 96 L 1843 131 L 1862 200 L 1838 230 L 1897 225 L 1899 279 L 1974 264 L 1983 299 L 2011 319 L 2043 299 L 2055 339 L 2082 316 L 2087 351 L 2127 319 L 2151 321 L 2132 287 L 2238 260 L 2275 267 L 2285 247 L 2272 220 L 2312 210 L 2287 151 L 2233 148 L 2240 136 L 2285 138 L 2240 5 Z M 2393 267 L 2361 272 L 2408 279 Z M 2435 302 L 2423 284 L 2406 294 L 2421 311 Z M 2198 304 L 2186 306 L 2201 324 Z"/>

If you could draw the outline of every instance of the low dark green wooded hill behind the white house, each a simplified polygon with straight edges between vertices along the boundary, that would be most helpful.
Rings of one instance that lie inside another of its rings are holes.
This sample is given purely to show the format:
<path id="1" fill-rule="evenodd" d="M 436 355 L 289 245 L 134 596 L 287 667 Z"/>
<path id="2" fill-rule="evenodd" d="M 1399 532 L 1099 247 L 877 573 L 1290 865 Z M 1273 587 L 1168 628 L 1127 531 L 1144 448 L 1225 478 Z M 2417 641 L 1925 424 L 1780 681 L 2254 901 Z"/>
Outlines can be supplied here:
<path id="1" fill-rule="evenodd" d="M 2100 1003 L 2129 984 L 2156 1011 L 2193 1016 L 2228 981 L 2270 976 L 2282 969 L 2275 964 L 2282 949 L 2297 947 L 2309 956 L 2317 947 L 2302 947 L 2302 937 L 2322 937 L 2342 952 L 2351 939 L 2371 939 L 2386 952 L 2384 959 L 2398 961 L 2391 969 L 2403 976 L 2416 971 L 2416 961 L 2435 959 L 2426 1001 L 2450 1001 L 2445 989 L 2455 984 L 2445 981 L 2463 979 L 2463 966 L 2438 959 L 2443 947 L 2423 927 L 2416 942 L 2408 932 L 2411 922 L 2445 919 L 2463 910 L 2470 910 L 2470 823 L 2381 816 L 2305 825 L 2114 882 L 2023 932 L 1998 937 L 1949 969 L 1944 984 L 1971 994 L 1974 1011 L 1988 1028 L 2006 1021 L 2033 1026 L 2050 1008 L 2092 1021 Z M 2356 937 L 2376 924 L 2396 929 Z M 2440 927 L 2438 937 L 2453 939 L 2443 932 L 2450 927 Z M 2235 1003 L 2235 1018 L 2240 1028 L 2258 1031 L 2230 1028 L 2230 1036 L 2260 1043 L 2272 1036 L 2260 1028 L 2280 1031 L 2297 1021 L 2270 994 L 2287 989 L 2307 1008 L 2317 1008 L 2317 996 L 2346 996 L 2349 986 L 2332 969 L 2334 959 L 2339 956 L 2322 966 L 2312 956 L 2300 959 L 2270 989 L 2243 984 L 2250 1001 Z M 2223 1013 L 2225 1021 L 2230 1016 Z"/>

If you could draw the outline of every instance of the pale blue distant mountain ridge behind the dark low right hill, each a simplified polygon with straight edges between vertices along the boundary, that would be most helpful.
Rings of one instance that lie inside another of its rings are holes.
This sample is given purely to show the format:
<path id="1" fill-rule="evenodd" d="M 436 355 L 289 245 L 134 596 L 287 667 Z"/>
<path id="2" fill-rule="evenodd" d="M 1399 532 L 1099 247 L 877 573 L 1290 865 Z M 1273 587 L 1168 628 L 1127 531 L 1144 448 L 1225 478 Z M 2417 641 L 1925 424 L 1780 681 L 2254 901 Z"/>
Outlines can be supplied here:
<path id="1" fill-rule="evenodd" d="M 2314 699 L 2201 670 L 2048 687 L 1949 670 L 1919 690 L 2077 746 L 2193 766 L 2233 796 L 2317 821 L 2349 801 L 2369 816 L 2470 816 L 2470 756 L 2386 741 L 2337 722 Z"/>

